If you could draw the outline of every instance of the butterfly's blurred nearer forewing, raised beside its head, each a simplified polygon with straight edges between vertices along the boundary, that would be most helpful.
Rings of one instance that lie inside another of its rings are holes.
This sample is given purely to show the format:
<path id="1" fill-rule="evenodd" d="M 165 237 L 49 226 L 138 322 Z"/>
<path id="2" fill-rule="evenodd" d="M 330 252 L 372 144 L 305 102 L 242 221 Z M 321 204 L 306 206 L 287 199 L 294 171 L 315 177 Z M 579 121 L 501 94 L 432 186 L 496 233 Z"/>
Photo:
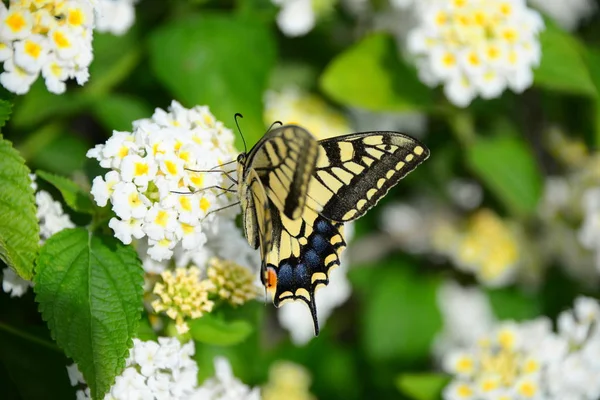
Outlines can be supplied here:
<path id="1" fill-rule="evenodd" d="M 302 215 L 318 151 L 306 129 L 285 125 L 267 133 L 248 154 L 249 169 L 259 175 L 271 203 L 289 218 Z"/>

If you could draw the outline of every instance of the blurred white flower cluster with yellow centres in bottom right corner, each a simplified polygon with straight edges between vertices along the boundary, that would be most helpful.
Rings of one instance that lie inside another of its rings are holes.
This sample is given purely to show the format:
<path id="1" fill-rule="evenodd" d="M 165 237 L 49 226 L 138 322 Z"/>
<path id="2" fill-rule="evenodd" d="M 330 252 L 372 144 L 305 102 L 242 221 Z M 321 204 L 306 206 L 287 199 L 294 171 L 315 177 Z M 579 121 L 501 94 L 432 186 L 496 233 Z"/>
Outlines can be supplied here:
<path id="1" fill-rule="evenodd" d="M 495 325 L 443 359 L 447 400 L 594 400 L 600 397 L 600 305 L 580 297 L 558 318 Z"/>

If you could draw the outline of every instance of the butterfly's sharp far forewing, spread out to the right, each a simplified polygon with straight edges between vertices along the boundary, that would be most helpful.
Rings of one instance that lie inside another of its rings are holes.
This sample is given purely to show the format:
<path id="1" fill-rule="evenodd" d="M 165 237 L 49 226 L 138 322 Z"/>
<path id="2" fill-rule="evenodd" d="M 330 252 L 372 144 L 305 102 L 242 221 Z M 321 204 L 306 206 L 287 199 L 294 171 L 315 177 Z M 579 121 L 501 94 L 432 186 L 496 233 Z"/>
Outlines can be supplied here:
<path id="1" fill-rule="evenodd" d="M 322 216 L 339 222 L 363 216 L 429 157 L 427 147 L 398 132 L 354 133 L 319 145 L 308 196 Z"/>

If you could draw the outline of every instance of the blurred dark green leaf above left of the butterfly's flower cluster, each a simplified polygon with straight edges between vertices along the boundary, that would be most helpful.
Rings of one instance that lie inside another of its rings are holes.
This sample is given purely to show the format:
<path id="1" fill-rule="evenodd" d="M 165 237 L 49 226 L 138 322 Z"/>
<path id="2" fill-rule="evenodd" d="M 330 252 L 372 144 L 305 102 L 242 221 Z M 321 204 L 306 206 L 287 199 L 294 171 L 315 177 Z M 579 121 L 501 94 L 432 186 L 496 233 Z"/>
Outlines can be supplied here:
<path id="1" fill-rule="evenodd" d="M 152 108 L 139 97 L 111 94 L 95 102 L 93 112 L 107 132 L 130 131 L 133 121 L 152 115 Z"/>

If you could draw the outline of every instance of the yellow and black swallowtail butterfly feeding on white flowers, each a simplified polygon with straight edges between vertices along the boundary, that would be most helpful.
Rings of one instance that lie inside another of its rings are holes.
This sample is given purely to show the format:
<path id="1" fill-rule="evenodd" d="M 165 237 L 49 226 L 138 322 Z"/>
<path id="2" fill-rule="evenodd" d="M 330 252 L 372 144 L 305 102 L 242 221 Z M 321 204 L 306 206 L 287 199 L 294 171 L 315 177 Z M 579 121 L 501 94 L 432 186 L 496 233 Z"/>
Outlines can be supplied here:
<path id="1" fill-rule="evenodd" d="M 427 157 L 427 147 L 398 132 L 318 141 L 297 125 L 272 129 L 241 153 L 242 226 L 260 249 L 261 281 L 273 304 L 305 302 L 318 335 L 315 291 L 340 264 L 344 223 L 364 215 Z"/>

